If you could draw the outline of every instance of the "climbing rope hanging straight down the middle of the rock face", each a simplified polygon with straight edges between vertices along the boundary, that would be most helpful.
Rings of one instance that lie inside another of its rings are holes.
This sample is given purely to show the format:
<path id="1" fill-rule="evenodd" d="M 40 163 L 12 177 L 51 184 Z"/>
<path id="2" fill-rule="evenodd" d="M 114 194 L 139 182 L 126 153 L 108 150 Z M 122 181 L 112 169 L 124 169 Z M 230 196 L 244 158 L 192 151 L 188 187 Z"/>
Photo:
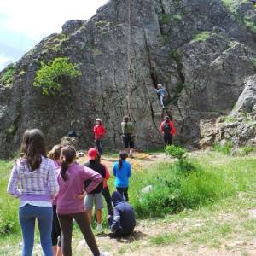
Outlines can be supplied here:
<path id="1" fill-rule="evenodd" d="M 127 42 L 127 107 L 131 118 L 131 0 L 128 0 L 128 42 Z"/>

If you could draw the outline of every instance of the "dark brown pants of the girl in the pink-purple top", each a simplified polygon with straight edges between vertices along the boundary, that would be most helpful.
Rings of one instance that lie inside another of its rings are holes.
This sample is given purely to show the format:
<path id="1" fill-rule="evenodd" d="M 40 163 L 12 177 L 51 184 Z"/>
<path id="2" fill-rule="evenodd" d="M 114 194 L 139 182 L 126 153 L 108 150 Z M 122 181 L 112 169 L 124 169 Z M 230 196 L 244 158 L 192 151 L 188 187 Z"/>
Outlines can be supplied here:
<path id="1" fill-rule="evenodd" d="M 62 253 L 64 256 L 72 256 L 72 230 L 73 230 L 73 218 L 79 225 L 79 229 L 84 235 L 84 239 L 87 245 L 90 247 L 90 251 L 94 256 L 100 256 L 100 251 L 97 247 L 95 237 L 90 228 L 89 218 L 86 212 L 73 213 L 73 214 L 58 214 L 58 218 L 61 224 L 61 236 L 62 236 Z"/>

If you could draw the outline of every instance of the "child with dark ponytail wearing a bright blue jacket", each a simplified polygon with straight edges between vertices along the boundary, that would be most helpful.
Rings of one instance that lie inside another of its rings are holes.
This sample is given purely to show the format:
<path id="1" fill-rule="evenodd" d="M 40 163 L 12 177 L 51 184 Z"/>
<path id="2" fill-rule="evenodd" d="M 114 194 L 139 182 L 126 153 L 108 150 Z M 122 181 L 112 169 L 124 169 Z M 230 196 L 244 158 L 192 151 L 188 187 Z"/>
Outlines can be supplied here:
<path id="1" fill-rule="evenodd" d="M 113 175 L 116 189 L 125 197 L 126 201 L 129 201 L 128 187 L 129 177 L 131 177 L 131 164 L 126 162 L 127 157 L 125 151 L 119 153 L 119 161 L 113 164 Z"/>

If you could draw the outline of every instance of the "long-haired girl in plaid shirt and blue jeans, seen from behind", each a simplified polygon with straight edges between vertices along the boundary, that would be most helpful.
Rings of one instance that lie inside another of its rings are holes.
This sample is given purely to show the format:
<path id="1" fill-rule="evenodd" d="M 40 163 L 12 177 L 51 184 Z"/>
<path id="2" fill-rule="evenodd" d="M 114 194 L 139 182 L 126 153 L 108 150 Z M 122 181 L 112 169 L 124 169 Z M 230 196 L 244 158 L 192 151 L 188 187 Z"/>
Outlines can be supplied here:
<path id="1" fill-rule="evenodd" d="M 58 192 L 53 160 L 46 156 L 44 135 L 38 129 L 26 130 L 20 160 L 15 162 L 8 193 L 20 198 L 19 219 L 22 230 L 22 256 L 32 255 L 35 221 L 38 219 L 44 255 L 52 256 L 52 197 Z M 20 183 L 20 189 L 18 189 Z"/>

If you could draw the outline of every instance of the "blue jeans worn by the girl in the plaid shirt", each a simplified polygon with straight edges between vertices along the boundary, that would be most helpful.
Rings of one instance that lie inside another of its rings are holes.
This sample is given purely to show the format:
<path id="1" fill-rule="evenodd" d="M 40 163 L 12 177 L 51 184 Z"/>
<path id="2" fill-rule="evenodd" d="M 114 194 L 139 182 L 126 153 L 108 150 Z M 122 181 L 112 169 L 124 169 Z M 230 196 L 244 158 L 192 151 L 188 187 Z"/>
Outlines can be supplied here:
<path id="1" fill-rule="evenodd" d="M 23 237 L 21 255 L 32 256 L 37 218 L 44 256 L 53 256 L 51 247 L 52 207 L 34 207 L 27 204 L 19 208 L 19 218 Z"/>

